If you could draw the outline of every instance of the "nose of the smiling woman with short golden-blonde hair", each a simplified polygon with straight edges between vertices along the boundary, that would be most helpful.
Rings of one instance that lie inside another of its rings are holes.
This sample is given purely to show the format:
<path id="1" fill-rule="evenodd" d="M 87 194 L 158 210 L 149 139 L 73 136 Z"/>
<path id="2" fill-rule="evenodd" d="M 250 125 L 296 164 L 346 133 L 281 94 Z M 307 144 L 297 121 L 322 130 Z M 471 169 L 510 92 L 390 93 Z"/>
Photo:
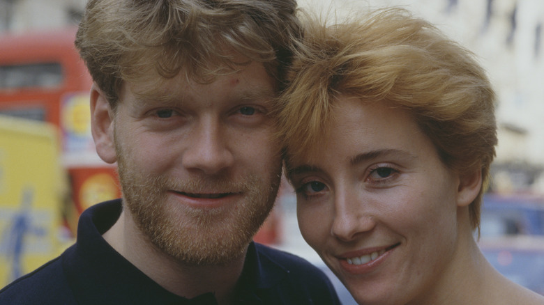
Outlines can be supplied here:
<path id="1" fill-rule="evenodd" d="M 356 193 L 356 192 L 355 192 Z M 360 233 L 375 228 L 376 219 L 368 214 L 364 198 L 350 191 L 335 195 L 335 214 L 331 235 L 344 242 L 355 240 Z"/>

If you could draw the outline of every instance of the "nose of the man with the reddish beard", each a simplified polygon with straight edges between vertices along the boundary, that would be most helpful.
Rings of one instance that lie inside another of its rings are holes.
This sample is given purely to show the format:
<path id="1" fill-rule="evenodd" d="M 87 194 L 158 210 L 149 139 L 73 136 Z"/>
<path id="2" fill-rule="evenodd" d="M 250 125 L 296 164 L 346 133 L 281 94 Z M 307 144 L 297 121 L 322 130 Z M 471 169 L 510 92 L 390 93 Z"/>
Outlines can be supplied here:
<path id="1" fill-rule="evenodd" d="M 227 131 L 218 119 L 203 118 L 190 132 L 190 142 L 183 153 L 186 169 L 214 175 L 234 164 Z"/>

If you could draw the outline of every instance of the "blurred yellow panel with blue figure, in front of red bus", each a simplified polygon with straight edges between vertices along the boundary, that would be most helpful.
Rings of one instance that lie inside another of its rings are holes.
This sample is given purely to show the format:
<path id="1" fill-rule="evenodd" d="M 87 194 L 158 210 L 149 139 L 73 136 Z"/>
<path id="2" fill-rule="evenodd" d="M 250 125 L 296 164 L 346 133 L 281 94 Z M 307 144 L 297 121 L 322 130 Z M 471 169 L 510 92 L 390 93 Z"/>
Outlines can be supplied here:
<path id="1" fill-rule="evenodd" d="M 48 123 L 0 117 L 0 287 L 61 251 L 57 138 Z"/>

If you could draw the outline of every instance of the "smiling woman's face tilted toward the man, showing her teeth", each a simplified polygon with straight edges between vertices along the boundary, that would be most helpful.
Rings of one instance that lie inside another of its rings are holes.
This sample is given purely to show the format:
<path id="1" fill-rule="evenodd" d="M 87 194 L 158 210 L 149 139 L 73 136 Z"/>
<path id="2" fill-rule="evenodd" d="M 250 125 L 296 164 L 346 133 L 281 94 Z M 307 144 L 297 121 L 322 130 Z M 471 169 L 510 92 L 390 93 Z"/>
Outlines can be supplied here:
<path id="1" fill-rule="evenodd" d="M 336 106 L 312 157 L 289 157 L 303 237 L 359 304 L 423 304 L 458 251 L 458 175 L 406 112 Z"/>

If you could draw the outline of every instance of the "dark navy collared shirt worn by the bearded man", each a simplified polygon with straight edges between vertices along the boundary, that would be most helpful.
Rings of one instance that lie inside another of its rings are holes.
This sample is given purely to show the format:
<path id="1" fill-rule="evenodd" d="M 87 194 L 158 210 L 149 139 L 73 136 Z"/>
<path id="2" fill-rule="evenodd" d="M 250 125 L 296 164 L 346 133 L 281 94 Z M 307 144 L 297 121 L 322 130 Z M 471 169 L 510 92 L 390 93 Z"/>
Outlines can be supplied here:
<path id="1" fill-rule="evenodd" d="M 77 242 L 58 258 L 0 290 L 0 304 L 216 304 L 213 293 L 186 299 L 165 290 L 103 239 L 121 200 L 87 209 Z M 340 304 L 326 275 L 289 253 L 251 243 L 235 304 Z"/>

